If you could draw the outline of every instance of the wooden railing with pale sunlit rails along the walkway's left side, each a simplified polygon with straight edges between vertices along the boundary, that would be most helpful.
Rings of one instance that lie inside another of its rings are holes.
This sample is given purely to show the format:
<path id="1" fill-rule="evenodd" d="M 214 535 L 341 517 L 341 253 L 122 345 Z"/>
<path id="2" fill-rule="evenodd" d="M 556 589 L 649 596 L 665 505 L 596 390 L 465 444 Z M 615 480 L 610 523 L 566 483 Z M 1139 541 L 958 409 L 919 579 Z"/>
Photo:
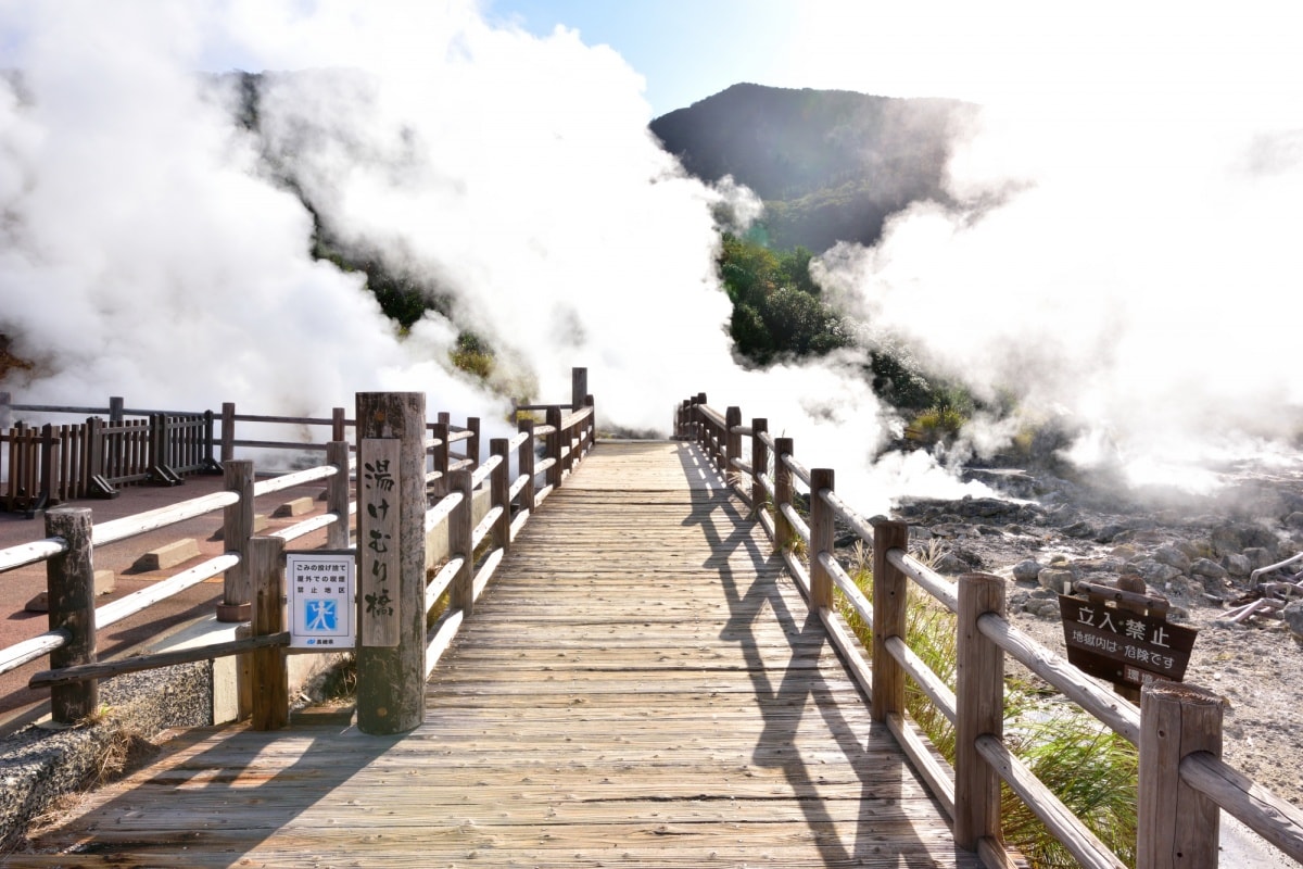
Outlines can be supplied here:
<path id="1" fill-rule="evenodd" d="M 576 373 L 576 384 L 581 375 Z M 586 388 L 586 384 L 585 384 Z M 362 401 L 362 396 L 358 396 Z M 416 448 L 425 457 L 425 470 L 414 481 L 423 512 L 423 533 L 414 546 L 427 550 L 433 535 L 446 533 L 447 558 L 417 554 L 422 565 L 420 581 L 425 606 L 420 651 L 423 675 L 438 663 L 443 650 L 470 615 L 476 598 L 491 578 L 503 554 L 523 524 L 538 504 L 560 486 L 569 470 L 592 447 L 595 438 L 592 396 L 572 401 L 580 409 L 563 412 L 560 405 L 546 408 L 549 422 L 532 420 L 519 423 L 513 438 L 490 442 L 487 461 L 478 461 L 478 426 L 455 427 L 448 414 L 438 422 L 421 422 Z M 422 404 L 423 406 L 423 404 Z M 360 414 L 361 416 L 361 414 Z M 341 414 L 332 422 L 339 434 Z M 276 417 L 248 417 L 245 421 L 284 425 Z M 302 425 L 301 420 L 289 420 Z M 229 430 L 229 429 L 228 429 Z M 423 436 L 433 431 L 435 436 Z M 542 460 L 537 444 L 542 440 Z M 463 443 L 464 453 L 450 451 Z M 361 436 L 358 438 L 361 443 Z M 267 447 L 267 443 L 259 443 Z M 291 444 L 302 448 L 302 444 Z M 98 680 L 142 670 L 179 663 L 206 661 L 233 654 L 250 654 L 253 683 L 251 723 L 255 728 L 272 730 L 288 722 L 288 675 L 284 655 L 289 633 L 285 627 L 284 545 L 322 528 L 327 529 L 326 548 L 357 551 L 352 545 L 349 516 L 358 511 L 351 498 L 349 472 L 356 469 L 351 446 L 344 440 L 315 444 L 326 451 L 326 464 L 255 481 L 253 463 L 228 459 L 224 464 L 225 489 L 160 509 L 147 511 L 99 525 L 91 521 L 89 508 L 59 508 L 46 512 L 46 537 L 31 543 L 0 550 L 0 573 L 36 563 L 46 563 L 48 578 L 50 619 L 52 628 L 31 640 L 0 650 L 0 672 L 12 671 L 43 655 L 50 655 L 50 670 L 38 672 L 30 687 L 51 689 L 51 714 L 57 723 L 76 723 L 95 711 Z M 509 477 L 512 456 L 519 468 Z M 433 465 L 433 468 L 431 468 Z M 538 477 L 543 477 L 542 485 Z M 281 529 L 267 537 L 253 532 L 254 499 L 294 486 L 326 481 L 327 511 L 317 517 Z M 477 511 L 477 502 L 483 509 Z M 182 571 L 149 589 L 129 594 L 102 607 L 94 606 L 94 550 L 117 541 L 167 528 L 218 509 L 223 511 L 225 552 Z M 476 524 L 477 513 L 482 512 Z M 442 562 L 439 564 L 438 562 Z M 439 568 L 433 580 L 425 581 L 425 567 Z M 202 648 L 99 662 L 95 659 L 95 632 L 128 616 L 139 614 L 216 575 L 224 575 L 223 602 L 219 618 L 250 621 L 251 636 Z M 447 599 L 447 608 L 429 634 L 423 632 L 425 614 Z M 388 683 L 387 672 L 364 672 L 358 667 L 360 717 L 362 683 Z M 388 685 L 380 688 L 387 689 Z M 379 715 L 384 717 L 384 710 Z"/>

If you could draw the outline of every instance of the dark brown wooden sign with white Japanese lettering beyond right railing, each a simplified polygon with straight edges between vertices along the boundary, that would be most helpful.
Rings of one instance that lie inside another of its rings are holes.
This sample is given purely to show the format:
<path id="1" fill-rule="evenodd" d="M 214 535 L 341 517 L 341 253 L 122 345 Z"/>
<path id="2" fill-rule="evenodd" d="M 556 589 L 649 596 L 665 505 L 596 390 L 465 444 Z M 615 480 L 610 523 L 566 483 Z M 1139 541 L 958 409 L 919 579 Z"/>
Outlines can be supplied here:
<path id="1" fill-rule="evenodd" d="M 1162 616 L 1059 595 L 1068 663 L 1115 685 L 1181 681 L 1197 631 Z"/>

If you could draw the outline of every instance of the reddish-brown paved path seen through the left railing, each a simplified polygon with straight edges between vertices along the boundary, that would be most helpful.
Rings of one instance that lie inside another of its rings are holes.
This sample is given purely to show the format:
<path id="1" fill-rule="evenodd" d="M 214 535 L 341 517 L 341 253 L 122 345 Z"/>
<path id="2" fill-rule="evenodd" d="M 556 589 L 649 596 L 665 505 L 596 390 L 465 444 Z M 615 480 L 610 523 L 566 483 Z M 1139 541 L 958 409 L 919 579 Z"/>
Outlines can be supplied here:
<path id="1" fill-rule="evenodd" d="M 85 507 L 91 511 L 93 522 L 104 522 L 145 511 L 167 507 L 182 500 L 198 498 L 223 487 L 220 474 L 201 474 L 186 477 L 180 486 L 126 486 L 112 499 L 85 499 L 68 502 L 60 507 Z M 324 490 L 324 482 L 318 481 L 304 486 L 285 489 L 258 498 L 254 513 L 267 517 L 267 526 L 259 533 L 266 534 L 301 522 L 326 509 L 326 502 L 318 495 Z M 300 498 L 311 498 L 313 509 L 293 517 L 275 517 L 281 504 Z M 225 551 L 219 539 L 222 529 L 222 509 L 206 513 L 137 537 L 119 541 L 95 548 L 96 571 L 113 572 L 113 591 L 100 595 L 96 606 L 122 598 L 132 591 L 149 588 L 195 564 Z M 46 538 L 43 515 L 26 519 L 26 513 L 0 511 L 0 550 Z M 189 562 L 160 571 L 142 571 L 137 563 L 142 555 L 173 541 L 193 538 L 199 547 L 199 556 Z M 318 530 L 293 541 L 292 548 L 313 548 L 324 545 L 326 532 Z M 100 661 L 125 657 L 141 645 L 151 642 L 169 631 L 194 619 L 212 615 L 222 602 L 222 575 L 205 580 L 185 591 L 151 606 L 122 621 L 103 629 L 96 637 Z M 50 629 L 46 612 L 29 611 L 27 603 L 46 590 L 46 564 L 36 563 L 14 571 L 0 573 L 0 649 L 22 640 L 36 637 Z M 50 691 L 33 691 L 27 680 L 33 674 L 50 668 L 48 657 L 40 657 L 12 672 L 0 675 L 0 735 L 39 718 L 48 706 Z"/>

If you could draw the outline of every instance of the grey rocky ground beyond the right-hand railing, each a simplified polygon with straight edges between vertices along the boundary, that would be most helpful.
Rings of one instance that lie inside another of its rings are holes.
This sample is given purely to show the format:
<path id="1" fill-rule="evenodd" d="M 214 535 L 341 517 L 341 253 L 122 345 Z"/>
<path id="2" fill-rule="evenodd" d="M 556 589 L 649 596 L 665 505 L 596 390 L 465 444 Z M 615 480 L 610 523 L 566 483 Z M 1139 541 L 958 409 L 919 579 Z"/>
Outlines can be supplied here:
<path id="1" fill-rule="evenodd" d="M 1184 681 L 1225 698 L 1225 760 L 1303 805 L 1303 599 L 1274 616 L 1231 620 L 1237 606 L 1264 591 L 1282 597 L 1281 584 L 1303 578 L 1294 576 L 1303 562 L 1250 578 L 1303 552 L 1303 477 L 1227 472 L 1214 495 L 1192 498 L 1118 496 L 1050 473 L 973 470 L 1002 496 L 916 500 L 896 517 L 920 546 L 941 552 L 939 572 L 1006 577 L 1011 620 L 1065 657 L 1063 582 L 1141 577 L 1148 594 L 1169 599 L 1170 621 L 1199 631 Z"/>

